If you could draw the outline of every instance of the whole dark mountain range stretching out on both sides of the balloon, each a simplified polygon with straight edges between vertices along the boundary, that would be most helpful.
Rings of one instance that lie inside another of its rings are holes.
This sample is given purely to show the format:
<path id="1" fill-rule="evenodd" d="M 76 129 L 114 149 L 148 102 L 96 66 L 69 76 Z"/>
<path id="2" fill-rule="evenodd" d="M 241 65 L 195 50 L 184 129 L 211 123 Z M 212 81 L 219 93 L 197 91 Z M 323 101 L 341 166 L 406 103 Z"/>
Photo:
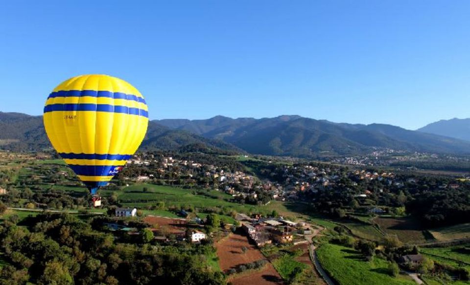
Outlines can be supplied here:
<path id="1" fill-rule="evenodd" d="M 0 112 L 0 148 L 50 147 L 42 116 Z M 470 154 L 470 141 L 384 124 L 347 124 L 301 116 L 207 120 L 153 120 L 141 150 L 217 150 L 232 153 L 316 157 L 370 153 L 377 148 Z"/>

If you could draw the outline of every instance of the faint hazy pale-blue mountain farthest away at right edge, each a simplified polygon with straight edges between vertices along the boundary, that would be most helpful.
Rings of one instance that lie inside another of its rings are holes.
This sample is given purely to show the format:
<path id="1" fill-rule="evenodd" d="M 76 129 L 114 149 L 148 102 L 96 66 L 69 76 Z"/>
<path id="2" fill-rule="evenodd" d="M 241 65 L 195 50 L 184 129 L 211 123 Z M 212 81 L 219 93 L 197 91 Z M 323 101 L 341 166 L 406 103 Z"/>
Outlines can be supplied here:
<path id="1" fill-rule="evenodd" d="M 418 131 L 444 135 L 470 141 L 470 118 L 440 120 L 418 129 Z"/>

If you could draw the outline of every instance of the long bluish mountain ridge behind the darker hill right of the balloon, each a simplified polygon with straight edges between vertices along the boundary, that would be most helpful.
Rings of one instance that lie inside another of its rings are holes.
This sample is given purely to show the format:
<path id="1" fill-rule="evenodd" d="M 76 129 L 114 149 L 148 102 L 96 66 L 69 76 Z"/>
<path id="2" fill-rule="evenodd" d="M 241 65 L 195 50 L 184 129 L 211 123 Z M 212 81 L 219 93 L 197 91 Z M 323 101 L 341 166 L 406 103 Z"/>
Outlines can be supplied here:
<path id="1" fill-rule="evenodd" d="M 470 143 L 384 124 L 347 124 L 301 116 L 207 120 L 156 120 L 174 130 L 223 139 L 249 153 L 309 157 L 347 155 L 392 148 L 433 153 L 470 153 Z"/>

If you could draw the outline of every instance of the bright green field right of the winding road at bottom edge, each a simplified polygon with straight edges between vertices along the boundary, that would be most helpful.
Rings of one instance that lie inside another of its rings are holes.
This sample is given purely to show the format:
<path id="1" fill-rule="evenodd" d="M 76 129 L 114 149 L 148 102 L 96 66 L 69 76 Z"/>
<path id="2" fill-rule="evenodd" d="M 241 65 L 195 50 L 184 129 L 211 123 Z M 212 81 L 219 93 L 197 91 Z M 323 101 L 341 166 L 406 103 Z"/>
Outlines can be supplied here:
<path id="1" fill-rule="evenodd" d="M 364 261 L 359 252 L 326 243 L 317 249 L 318 260 L 329 276 L 341 285 L 387 284 L 414 285 L 407 275 L 394 278 L 388 274 L 388 261 L 375 258 Z"/>

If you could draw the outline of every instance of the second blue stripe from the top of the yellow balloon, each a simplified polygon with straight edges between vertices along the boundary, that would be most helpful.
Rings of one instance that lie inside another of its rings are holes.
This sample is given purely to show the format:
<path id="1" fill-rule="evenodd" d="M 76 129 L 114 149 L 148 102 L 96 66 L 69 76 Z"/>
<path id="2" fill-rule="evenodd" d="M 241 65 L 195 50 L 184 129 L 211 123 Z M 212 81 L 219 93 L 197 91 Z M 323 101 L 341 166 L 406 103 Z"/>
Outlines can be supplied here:
<path id="1" fill-rule="evenodd" d="M 50 104 L 44 107 L 44 112 L 53 111 L 96 111 L 124 113 L 129 115 L 139 115 L 148 118 L 148 112 L 139 108 L 132 108 L 119 105 L 107 104 Z"/>

